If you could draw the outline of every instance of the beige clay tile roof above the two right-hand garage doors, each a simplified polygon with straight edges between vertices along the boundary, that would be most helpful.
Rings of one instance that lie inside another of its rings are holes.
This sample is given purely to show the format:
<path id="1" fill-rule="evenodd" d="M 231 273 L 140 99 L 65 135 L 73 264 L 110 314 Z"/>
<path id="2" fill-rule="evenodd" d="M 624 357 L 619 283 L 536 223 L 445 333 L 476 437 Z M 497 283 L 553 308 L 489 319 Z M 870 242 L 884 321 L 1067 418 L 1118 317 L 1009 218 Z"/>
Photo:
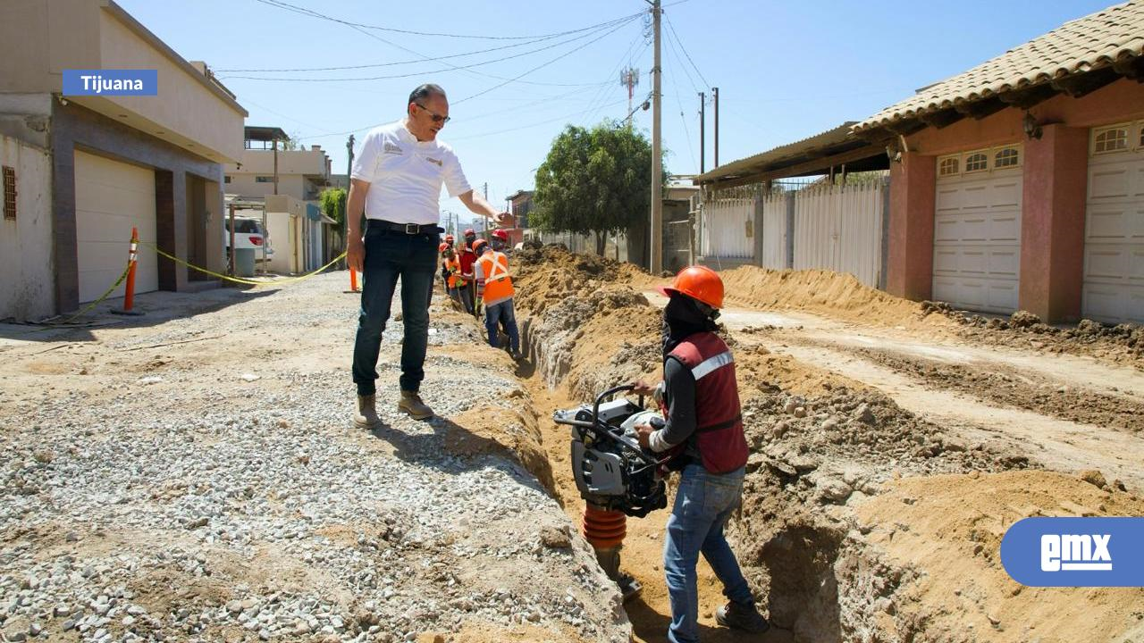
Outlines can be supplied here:
<path id="1" fill-rule="evenodd" d="M 967 72 L 919 89 L 861 121 L 855 132 L 1088 73 L 1141 55 L 1144 0 L 1131 0 L 1067 22 Z"/>

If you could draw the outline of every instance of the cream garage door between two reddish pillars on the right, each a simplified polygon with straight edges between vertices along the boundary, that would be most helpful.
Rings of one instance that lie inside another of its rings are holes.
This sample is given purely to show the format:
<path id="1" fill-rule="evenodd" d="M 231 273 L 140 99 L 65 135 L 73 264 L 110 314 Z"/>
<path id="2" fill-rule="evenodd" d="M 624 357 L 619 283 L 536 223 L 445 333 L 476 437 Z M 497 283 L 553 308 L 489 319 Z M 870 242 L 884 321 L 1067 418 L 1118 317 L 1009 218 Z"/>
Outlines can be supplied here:
<path id="1" fill-rule="evenodd" d="M 985 312 L 1017 309 L 1019 145 L 938 158 L 934 299 Z"/>

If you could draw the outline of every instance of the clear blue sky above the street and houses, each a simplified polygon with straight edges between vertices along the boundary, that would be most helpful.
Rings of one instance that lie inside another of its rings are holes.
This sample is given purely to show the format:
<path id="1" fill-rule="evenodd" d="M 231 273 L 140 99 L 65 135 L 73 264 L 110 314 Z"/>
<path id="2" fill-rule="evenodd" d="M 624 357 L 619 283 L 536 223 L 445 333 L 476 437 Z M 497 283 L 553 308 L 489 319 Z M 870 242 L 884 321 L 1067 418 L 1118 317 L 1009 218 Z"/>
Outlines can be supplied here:
<path id="1" fill-rule="evenodd" d="M 641 18 L 522 45 L 530 41 L 355 29 L 275 7 L 275 0 L 117 1 L 183 57 L 206 61 L 215 70 L 386 64 L 305 72 L 217 72 L 251 112 L 248 125 L 279 126 L 303 137 L 305 144 L 320 144 L 339 173 L 345 172 L 349 130 L 357 130 L 360 144 L 368 126 L 404 114 L 413 87 L 420 82 L 442 85 L 448 92 L 453 119 L 442 140 L 456 150 L 474 186 L 488 183 L 494 205 L 503 205 L 503 198 L 518 189 L 532 188 L 537 166 L 566 124 L 591 125 L 627 114 L 627 90 L 619 84 L 621 68 L 639 69 L 637 102 L 651 90 L 652 49 Z M 643 0 L 283 1 L 353 23 L 498 38 L 579 30 L 648 7 Z M 720 160 L 725 164 L 845 120 L 860 120 L 919 87 L 964 71 L 1109 2 L 664 0 L 664 5 L 667 165 L 673 173 L 693 174 L 699 167 L 699 90 L 709 96 L 709 87 L 720 88 Z M 424 61 L 493 47 L 506 48 Z M 688 62 L 689 55 L 694 66 Z M 506 56 L 516 57 L 467 70 L 450 69 Z M 406 61 L 418 62 L 388 64 Z M 540 69 L 531 71 L 534 68 Z M 297 80 L 396 74 L 410 76 Z M 236 78 L 239 76 L 292 80 Z M 502 79 L 517 77 L 546 85 L 514 81 L 491 89 L 503 84 Z M 650 135 L 650 111 L 637 111 L 635 122 Z M 709 169 L 714 134 L 710 106 L 707 127 Z M 455 199 L 443 198 L 442 208 L 466 212 Z"/>

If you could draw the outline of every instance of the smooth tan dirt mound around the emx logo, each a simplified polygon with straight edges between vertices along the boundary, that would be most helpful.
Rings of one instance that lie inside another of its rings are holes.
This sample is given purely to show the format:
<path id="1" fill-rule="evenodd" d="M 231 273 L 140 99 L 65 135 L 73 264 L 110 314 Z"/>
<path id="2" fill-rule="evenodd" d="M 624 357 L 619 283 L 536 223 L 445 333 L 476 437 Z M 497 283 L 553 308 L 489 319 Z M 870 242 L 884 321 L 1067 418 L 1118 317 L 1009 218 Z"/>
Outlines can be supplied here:
<path id="1" fill-rule="evenodd" d="M 950 643 L 1138 641 L 1144 589 L 1024 587 L 1001 566 L 1001 537 L 1020 518 L 1144 515 L 1144 499 L 1090 479 L 1049 471 L 901 479 L 858 507 L 859 529 L 883 559 L 915 572 L 876 605 L 889 632 Z"/>

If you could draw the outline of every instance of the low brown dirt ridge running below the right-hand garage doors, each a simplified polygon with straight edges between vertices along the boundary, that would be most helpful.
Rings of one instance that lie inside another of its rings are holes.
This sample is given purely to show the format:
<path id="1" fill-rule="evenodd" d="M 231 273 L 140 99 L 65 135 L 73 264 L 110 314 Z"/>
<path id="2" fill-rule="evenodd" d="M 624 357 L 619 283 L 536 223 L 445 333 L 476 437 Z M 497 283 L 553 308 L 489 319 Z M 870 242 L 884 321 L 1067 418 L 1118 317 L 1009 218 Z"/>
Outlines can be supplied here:
<path id="1" fill-rule="evenodd" d="M 1144 326 L 1138 324 L 1113 325 L 1081 319 L 1075 326 L 1050 326 L 1027 310 L 1018 310 L 1003 319 L 956 310 L 945 302 L 923 301 L 921 305 L 924 315 L 937 313 L 952 319 L 961 326 L 961 335 L 984 343 L 1088 355 L 1144 368 Z"/>

